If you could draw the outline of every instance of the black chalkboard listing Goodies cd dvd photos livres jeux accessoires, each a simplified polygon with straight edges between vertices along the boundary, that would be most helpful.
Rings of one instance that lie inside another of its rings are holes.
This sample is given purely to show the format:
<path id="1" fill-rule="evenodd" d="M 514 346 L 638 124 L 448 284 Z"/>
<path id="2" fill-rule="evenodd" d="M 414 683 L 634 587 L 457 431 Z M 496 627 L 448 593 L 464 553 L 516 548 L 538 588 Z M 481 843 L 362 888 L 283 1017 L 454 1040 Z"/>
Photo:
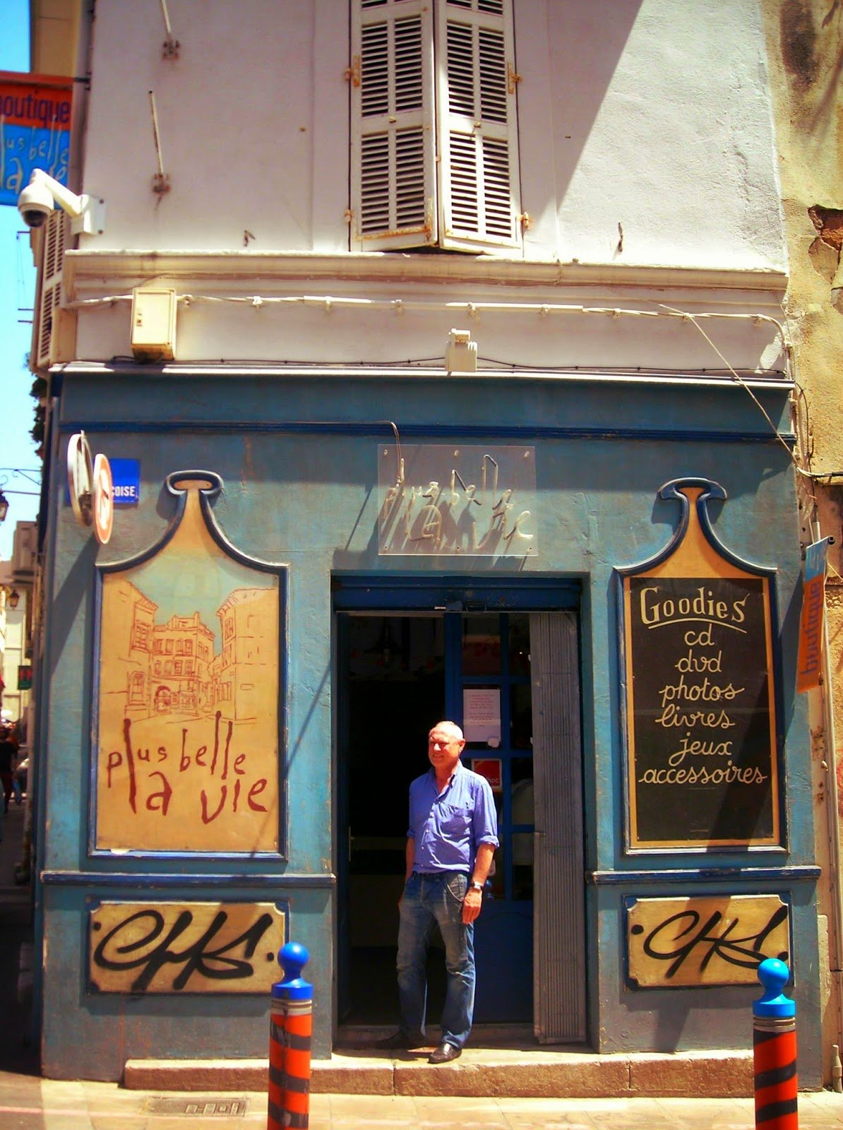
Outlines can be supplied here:
<path id="1" fill-rule="evenodd" d="M 632 847 L 777 842 L 768 583 L 624 579 Z"/>

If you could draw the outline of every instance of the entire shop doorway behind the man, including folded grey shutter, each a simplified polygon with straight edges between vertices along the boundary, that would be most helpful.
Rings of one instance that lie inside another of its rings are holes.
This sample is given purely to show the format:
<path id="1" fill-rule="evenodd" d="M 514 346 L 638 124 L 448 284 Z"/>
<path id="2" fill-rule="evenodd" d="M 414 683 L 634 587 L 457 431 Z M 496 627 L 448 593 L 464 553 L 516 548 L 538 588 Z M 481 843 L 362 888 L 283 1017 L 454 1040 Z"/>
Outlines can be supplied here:
<path id="1" fill-rule="evenodd" d="M 397 1023 L 408 786 L 428 767 L 431 727 L 451 719 L 466 732 L 463 764 L 492 785 L 501 841 L 475 931 L 475 1022 L 530 1025 L 546 1043 L 583 1042 L 579 585 L 415 579 L 381 588 L 344 577 L 333 593 L 344 1038 Z M 434 1025 L 443 999 L 444 962 L 434 950 Z"/>

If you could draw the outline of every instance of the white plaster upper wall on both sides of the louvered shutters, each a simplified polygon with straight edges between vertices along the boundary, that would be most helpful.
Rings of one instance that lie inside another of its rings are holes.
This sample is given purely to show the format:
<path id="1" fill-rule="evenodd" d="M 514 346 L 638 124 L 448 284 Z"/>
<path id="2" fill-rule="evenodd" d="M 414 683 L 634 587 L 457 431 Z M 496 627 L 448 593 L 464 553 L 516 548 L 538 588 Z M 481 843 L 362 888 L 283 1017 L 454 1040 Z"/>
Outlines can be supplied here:
<path id="1" fill-rule="evenodd" d="M 158 0 L 97 2 L 84 190 L 107 223 L 80 246 L 348 250 L 347 0 L 168 10 L 172 61 Z M 784 268 L 757 0 L 514 0 L 514 17 L 525 258 Z"/>

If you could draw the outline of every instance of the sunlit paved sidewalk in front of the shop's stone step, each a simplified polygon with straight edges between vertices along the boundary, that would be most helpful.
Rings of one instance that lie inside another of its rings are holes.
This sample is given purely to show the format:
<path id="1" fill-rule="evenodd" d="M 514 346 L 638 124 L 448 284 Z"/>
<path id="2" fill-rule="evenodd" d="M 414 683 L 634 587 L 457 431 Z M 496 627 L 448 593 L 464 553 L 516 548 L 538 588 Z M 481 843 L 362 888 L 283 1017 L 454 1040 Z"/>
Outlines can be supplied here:
<path id="1" fill-rule="evenodd" d="M 0 1074 L 2 1130 L 246 1130 L 267 1096 L 154 1094 Z M 313 1130 L 753 1130 L 746 1098 L 431 1098 L 313 1095 Z M 843 1128 L 843 1095 L 799 1096 L 801 1130 Z"/>

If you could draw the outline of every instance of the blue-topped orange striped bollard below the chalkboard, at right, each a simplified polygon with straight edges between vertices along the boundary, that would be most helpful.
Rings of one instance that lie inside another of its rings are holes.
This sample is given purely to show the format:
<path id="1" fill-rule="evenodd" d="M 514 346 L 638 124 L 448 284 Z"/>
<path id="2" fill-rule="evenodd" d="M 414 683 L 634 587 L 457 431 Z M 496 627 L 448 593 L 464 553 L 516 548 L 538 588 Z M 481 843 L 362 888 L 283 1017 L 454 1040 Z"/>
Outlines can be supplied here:
<path id="1" fill-rule="evenodd" d="M 764 993 L 753 1003 L 756 1130 L 799 1130 L 797 1006 L 782 993 L 789 977 L 777 957 L 758 966 Z"/>

